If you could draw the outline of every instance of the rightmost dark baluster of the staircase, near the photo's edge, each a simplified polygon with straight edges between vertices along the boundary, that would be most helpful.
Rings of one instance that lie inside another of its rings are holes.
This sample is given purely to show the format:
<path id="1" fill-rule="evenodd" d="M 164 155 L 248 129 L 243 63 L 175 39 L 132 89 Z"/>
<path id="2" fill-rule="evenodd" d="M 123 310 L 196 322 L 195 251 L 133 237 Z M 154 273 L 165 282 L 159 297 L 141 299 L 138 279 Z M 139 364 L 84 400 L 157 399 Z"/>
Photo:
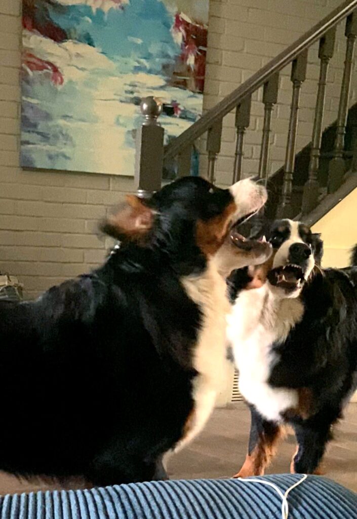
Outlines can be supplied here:
<path id="1" fill-rule="evenodd" d="M 338 105 L 337 128 L 334 147 L 334 157 L 328 165 L 327 192 L 334 193 L 340 187 L 345 174 L 345 160 L 343 157 L 345 146 L 345 132 L 348 114 L 348 101 L 353 65 L 354 44 L 357 36 L 357 11 L 354 11 L 346 20 L 347 45 L 344 75 L 342 77 L 340 101 Z"/>

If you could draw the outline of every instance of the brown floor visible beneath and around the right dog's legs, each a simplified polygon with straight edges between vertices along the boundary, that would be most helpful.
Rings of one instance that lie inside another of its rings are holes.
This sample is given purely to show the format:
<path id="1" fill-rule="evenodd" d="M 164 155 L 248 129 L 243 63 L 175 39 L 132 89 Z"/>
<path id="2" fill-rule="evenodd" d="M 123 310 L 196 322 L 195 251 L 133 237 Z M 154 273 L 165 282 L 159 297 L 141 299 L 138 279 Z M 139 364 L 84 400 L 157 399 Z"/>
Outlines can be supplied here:
<path id="1" fill-rule="evenodd" d="M 243 403 L 216 409 L 199 438 L 170 460 L 171 479 L 234 475 L 245 458 L 249 425 L 249 412 Z M 294 435 L 288 434 L 267 473 L 289 472 L 295 447 Z M 326 477 L 357 492 L 357 403 L 349 405 L 345 419 L 336 426 L 324 466 Z"/>

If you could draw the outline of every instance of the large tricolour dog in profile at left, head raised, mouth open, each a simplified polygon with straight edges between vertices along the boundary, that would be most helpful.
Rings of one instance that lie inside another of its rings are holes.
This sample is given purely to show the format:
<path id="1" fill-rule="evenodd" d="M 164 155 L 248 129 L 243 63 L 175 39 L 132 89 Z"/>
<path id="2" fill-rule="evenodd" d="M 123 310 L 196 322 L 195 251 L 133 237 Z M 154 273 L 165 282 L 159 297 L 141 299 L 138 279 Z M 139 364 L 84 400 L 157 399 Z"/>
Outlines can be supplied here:
<path id="1" fill-rule="evenodd" d="M 266 243 L 232 225 L 266 201 L 187 177 L 129 196 L 103 225 L 121 247 L 91 274 L 0 303 L 0 469 L 109 485 L 161 479 L 225 385 L 225 276 Z"/>

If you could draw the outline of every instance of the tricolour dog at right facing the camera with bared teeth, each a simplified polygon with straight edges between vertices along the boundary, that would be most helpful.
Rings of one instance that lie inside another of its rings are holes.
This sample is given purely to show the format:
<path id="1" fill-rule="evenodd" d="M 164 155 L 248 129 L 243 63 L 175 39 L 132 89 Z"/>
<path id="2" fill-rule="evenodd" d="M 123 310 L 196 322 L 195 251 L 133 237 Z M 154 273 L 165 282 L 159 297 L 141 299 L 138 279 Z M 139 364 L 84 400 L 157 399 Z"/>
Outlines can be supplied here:
<path id="1" fill-rule="evenodd" d="M 357 387 L 357 268 L 322 270 L 320 235 L 300 222 L 274 222 L 267 239 L 270 260 L 229 278 L 228 336 L 251 411 L 238 477 L 264 473 L 284 424 L 298 443 L 291 470 L 317 472 Z"/>

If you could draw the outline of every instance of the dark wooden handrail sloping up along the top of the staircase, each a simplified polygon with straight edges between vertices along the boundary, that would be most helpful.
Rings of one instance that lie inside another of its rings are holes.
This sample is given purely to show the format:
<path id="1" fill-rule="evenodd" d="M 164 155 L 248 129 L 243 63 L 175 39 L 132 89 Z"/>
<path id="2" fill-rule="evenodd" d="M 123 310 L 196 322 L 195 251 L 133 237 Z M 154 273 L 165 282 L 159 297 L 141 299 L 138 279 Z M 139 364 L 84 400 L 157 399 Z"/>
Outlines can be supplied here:
<path id="1" fill-rule="evenodd" d="M 164 160 L 175 157 L 182 149 L 191 145 L 205 131 L 221 121 L 225 115 L 239 105 L 247 95 L 251 95 L 264 85 L 270 76 L 291 63 L 301 52 L 310 47 L 338 22 L 346 18 L 356 7 L 357 0 L 346 0 L 336 7 L 323 20 L 314 25 L 303 36 L 300 36 L 296 42 L 280 52 L 278 56 L 244 81 L 242 85 L 217 103 L 211 110 L 205 112 L 198 121 L 187 128 L 181 135 L 173 139 L 164 151 Z"/>

